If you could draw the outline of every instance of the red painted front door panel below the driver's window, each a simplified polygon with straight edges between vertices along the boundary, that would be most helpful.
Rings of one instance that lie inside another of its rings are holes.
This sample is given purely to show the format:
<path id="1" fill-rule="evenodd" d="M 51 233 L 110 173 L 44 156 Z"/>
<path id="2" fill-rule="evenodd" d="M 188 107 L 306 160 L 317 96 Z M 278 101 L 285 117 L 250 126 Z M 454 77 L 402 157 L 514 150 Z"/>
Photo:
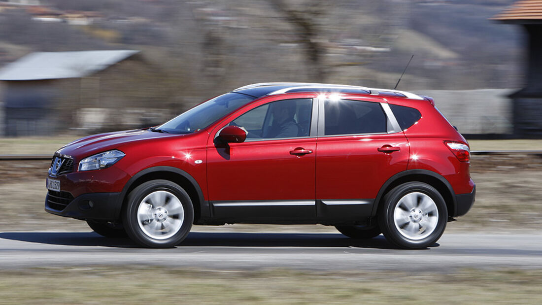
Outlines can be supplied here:
<path id="1" fill-rule="evenodd" d="M 315 150 L 314 138 L 210 147 L 209 200 L 314 200 Z"/>

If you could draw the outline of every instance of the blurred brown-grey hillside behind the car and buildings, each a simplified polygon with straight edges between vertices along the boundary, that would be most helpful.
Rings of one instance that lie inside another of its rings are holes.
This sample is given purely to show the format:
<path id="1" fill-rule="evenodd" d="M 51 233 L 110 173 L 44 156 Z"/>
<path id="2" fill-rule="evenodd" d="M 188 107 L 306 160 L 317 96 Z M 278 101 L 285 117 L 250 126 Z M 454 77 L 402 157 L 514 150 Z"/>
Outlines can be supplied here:
<path id="1" fill-rule="evenodd" d="M 201 95 L 210 84 L 220 92 L 269 80 L 385 87 L 414 54 L 404 89 L 517 87 L 521 31 L 487 19 L 512 2 L 42 0 L 2 9 L 0 1 L 0 67 L 32 50 L 153 49 L 150 61 Z M 314 21 L 312 36 L 276 3 Z"/>

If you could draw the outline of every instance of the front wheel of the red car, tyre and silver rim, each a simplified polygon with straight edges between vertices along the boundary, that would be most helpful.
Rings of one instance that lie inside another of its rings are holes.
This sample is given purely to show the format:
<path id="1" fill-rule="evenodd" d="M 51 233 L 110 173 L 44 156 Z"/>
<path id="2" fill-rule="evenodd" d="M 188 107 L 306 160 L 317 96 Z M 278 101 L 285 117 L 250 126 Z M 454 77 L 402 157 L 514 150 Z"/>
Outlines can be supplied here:
<path id="1" fill-rule="evenodd" d="M 122 220 L 134 242 L 149 248 L 170 248 L 190 232 L 192 200 L 169 180 L 147 181 L 128 194 Z"/>

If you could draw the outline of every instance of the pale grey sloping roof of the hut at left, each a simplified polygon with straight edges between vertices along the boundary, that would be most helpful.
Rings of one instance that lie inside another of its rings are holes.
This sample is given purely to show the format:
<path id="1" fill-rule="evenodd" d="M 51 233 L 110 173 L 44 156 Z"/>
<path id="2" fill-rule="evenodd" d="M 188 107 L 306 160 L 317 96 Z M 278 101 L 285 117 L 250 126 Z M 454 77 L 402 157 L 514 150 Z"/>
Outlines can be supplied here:
<path id="1" fill-rule="evenodd" d="M 136 50 L 35 52 L 0 70 L 2 81 L 69 79 L 83 77 L 139 53 Z"/>

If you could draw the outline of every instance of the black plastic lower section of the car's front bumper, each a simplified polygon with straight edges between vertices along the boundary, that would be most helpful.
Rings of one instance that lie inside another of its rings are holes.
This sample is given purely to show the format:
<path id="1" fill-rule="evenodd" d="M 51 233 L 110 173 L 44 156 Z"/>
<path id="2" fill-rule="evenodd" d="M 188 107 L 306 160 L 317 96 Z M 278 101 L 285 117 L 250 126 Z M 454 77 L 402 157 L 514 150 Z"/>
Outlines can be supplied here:
<path id="1" fill-rule="evenodd" d="M 45 199 L 45 211 L 51 214 L 76 219 L 118 220 L 120 218 L 122 207 L 120 192 L 82 194 L 71 200 L 63 209 L 53 203 L 55 200 L 53 197 L 53 194 L 48 193 Z"/>

